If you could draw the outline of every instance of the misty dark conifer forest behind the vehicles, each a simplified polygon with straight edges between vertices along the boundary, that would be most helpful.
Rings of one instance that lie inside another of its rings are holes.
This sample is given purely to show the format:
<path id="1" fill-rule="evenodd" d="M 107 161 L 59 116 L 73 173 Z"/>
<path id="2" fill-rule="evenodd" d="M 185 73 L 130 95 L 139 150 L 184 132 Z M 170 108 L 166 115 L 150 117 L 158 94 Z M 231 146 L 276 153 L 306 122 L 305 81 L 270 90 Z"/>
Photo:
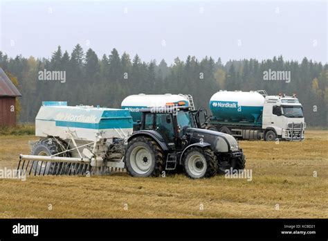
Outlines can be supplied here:
<path id="1" fill-rule="evenodd" d="M 170 60 L 171 61 L 171 60 Z M 206 107 L 213 93 L 222 90 L 264 89 L 268 94 L 296 93 L 302 102 L 305 121 L 311 127 L 327 127 L 328 64 L 304 57 L 302 62 L 284 60 L 229 60 L 205 56 L 198 60 L 176 57 L 143 62 L 138 55 L 118 53 L 116 48 L 102 56 L 77 44 L 72 53 L 60 46 L 51 59 L 8 57 L 0 51 L 0 67 L 17 78 L 21 123 L 34 122 L 42 101 L 63 100 L 69 105 L 120 107 L 136 93 L 190 93 L 197 107 Z M 65 71 L 66 81 L 40 80 L 39 71 Z M 264 80 L 265 71 L 290 71 L 291 81 Z"/>

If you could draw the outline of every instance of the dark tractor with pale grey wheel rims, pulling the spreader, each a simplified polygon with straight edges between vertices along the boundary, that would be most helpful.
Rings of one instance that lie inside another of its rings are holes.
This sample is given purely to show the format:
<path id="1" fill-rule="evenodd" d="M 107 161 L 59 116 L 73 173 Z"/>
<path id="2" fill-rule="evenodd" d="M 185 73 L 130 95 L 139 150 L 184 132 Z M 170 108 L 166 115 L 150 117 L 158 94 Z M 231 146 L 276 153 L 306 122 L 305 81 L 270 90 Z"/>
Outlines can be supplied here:
<path id="1" fill-rule="evenodd" d="M 142 118 L 129 137 L 125 152 L 127 172 L 134 177 L 157 177 L 183 170 L 193 179 L 225 170 L 244 169 L 245 157 L 229 134 L 201 129 L 201 110 L 189 107 L 140 109 Z"/>

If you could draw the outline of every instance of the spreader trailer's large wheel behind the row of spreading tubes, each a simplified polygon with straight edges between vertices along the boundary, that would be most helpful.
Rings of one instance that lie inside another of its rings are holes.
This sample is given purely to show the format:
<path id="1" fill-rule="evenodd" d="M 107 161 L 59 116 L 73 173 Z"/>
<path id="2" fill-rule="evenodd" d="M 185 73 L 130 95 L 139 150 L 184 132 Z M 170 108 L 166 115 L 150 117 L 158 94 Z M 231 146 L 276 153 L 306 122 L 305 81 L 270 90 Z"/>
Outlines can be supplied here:
<path id="1" fill-rule="evenodd" d="M 63 143 L 62 143 L 63 145 Z M 62 152 L 62 147 L 52 139 L 44 139 L 39 140 L 37 143 L 33 145 L 33 149 L 31 151 L 31 155 L 36 156 L 51 156 L 53 154 L 57 154 L 58 152 Z M 60 155 L 63 157 L 63 155 Z M 32 172 L 37 175 L 53 175 L 55 174 L 55 170 L 57 170 L 58 165 L 62 165 L 62 163 L 48 163 L 42 161 L 33 161 L 32 163 Z"/>

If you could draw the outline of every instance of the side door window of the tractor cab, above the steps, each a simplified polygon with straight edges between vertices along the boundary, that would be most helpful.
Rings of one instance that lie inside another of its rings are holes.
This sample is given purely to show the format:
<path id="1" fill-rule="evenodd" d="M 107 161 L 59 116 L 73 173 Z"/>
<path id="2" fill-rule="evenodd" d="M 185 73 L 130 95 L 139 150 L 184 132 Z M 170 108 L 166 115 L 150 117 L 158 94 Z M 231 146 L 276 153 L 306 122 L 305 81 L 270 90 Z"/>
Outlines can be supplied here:
<path id="1" fill-rule="evenodd" d="M 156 131 L 163 136 L 165 141 L 174 142 L 174 128 L 171 114 L 156 114 Z"/>

